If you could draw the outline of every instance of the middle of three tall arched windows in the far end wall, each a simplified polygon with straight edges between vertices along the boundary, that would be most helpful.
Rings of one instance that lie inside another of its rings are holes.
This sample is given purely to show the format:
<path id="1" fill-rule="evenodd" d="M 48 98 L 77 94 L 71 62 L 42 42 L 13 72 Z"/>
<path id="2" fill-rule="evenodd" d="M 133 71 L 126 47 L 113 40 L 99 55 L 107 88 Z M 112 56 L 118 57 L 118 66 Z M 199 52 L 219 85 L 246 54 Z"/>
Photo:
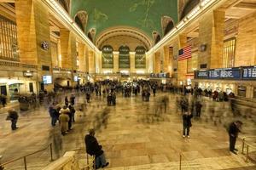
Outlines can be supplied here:
<path id="1" fill-rule="evenodd" d="M 130 68 L 130 48 L 128 46 L 119 47 L 119 68 Z"/>

